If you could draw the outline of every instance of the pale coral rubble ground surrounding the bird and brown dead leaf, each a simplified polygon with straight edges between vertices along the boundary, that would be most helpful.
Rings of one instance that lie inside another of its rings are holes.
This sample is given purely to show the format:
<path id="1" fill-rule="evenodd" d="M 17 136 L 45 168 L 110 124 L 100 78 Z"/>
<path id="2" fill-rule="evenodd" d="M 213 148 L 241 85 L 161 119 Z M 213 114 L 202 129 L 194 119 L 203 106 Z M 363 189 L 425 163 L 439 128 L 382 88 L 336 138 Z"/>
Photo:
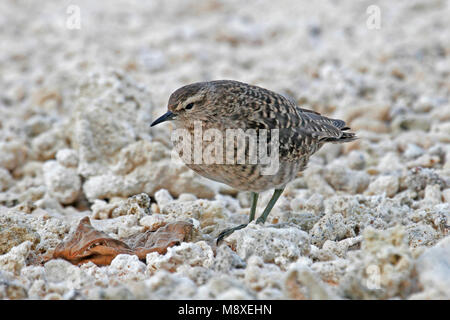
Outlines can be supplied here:
<path id="1" fill-rule="evenodd" d="M 449 1 L 0 12 L 0 298 L 450 299 Z M 266 225 L 220 246 L 249 195 L 173 161 L 170 126 L 149 128 L 172 91 L 213 79 L 283 93 L 360 138 L 322 148 Z M 145 260 L 35 263 L 85 216 L 114 239 L 174 221 L 194 236 Z"/>

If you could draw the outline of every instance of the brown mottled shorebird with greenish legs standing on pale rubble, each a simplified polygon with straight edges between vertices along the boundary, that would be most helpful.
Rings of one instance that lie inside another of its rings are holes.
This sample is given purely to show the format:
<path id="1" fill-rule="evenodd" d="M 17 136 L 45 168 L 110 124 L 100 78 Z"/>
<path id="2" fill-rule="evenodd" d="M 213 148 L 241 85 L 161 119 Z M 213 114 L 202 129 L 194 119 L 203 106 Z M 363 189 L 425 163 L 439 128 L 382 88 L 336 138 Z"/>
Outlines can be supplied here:
<path id="1" fill-rule="evenodd" d="M 250 192 L 248 223 L 255 219 L 261 192 L 274 189 L 267 206 L 256 220 L 256 223 L 264 224 L 286 185 L 296 178 L 298 172 L 306 169 L 312 154 L 324 144 L 357 139 L 343 120 L 328 118 L 316 111 L 301 108 L 282 94 L 235 80 L 195 82 L 182 86 L 170 95 L 167 108 L 168 111 L 153 121 L 151 127 L 171 121 L 176 130 L 185 134 L 183 139 L 178 137 L 172 142 L 188 168 L 239 191 Z M 238 139 L 229 140 L 231 146 L 227 145 L 228 140 L 224 136 L 233 130 L 251 132 L 251 137 L 256 139 L 253 146 L 265 143 L 267 153 L 276 156 L 273 158 L 277 161 L 276 170 L 267 174 L 272 163 L 237 161 L 239 148 L 245 154 L 245 159 L 254 150 L 250 142 L 239 145 Z M 214 139 L 198 136 L 199 131 L 205 134 L 213 132 L 211 136 Z M 192 137 L 196 141 L 193 142 Z M 193 161 L 195 143 L 200 143 L 203 150 L 214 150 L 211 155 L 216 156 L 213 156 L 216 161 L 202 161 L 206 160 L 206 156 L 201 152 L 197 161 Z M 231 159 L 226 158 L 224 150 L 218 150 L 220 146 L 229 148 L 226 151 L 234 151 Z M 248 223 L 220 232 L 217 244 L 234 231 L 245 228 Z"/>

